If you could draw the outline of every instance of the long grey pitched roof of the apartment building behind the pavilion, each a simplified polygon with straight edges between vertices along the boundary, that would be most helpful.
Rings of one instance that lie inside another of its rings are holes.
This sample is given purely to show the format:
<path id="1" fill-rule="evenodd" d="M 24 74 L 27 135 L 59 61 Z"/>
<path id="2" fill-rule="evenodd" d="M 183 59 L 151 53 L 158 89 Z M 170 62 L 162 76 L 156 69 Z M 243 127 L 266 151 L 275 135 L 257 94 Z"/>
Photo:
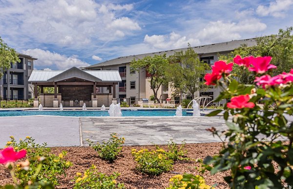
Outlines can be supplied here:
<path id="1" fill-rule="evenodd" d="M 255 41 L 255 38 L 249 38 L 249 39 L 232 40 L 232 41 L 228 41 L 228 42 L 196 46 L 196 47 L 191 47 L 191 48 L 197 54 L 208 54 L 208 53 L 232 51 L 232 50 L 240 47 L 242 44 L 247 44 L 247 46 L 254 46 L 254 45 L 256 45 L 256 41 Z M 91 65 L 91 66 L 88 66 L 85 68 L 93 69 L 93 68 L 99 68 L 99 67 L 103 67 L 103 66 L 129 63 L 133 59 L 142 59 L 146 56 L 152 57 L 154 55 L 166 54 L 166 56 L 169 57 L 169 56 L 173 55 L 175 52 L 186 51 L 187 49 L 188 48 L 181 48 L 181 49 L 174 49 L 174 50 L 168 50 L 168 51 L 160 51 L 160 52 L 154 52 L 154 53 L 146 53 L 146 54 L 140 54 L 140 55 L 130 55 L 130 56 L 126 56 L 126 57 L 118 57 L 118 58 L 114 58 L 111 60 L 107 60 L 104 62 L 94 64 L 94 65 Z"/>

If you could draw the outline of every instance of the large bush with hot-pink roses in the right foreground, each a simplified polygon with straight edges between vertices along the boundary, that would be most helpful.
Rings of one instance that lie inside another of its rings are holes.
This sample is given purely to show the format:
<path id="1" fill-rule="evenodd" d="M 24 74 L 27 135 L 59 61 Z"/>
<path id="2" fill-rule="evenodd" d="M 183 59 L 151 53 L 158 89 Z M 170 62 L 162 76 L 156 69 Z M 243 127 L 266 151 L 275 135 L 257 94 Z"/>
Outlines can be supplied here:
<path id="1" fill-rule="evenodd" d="M 222 91 L 216 101 L 230 99 L 224 110 L 227 131 L 209 128 L 223 141 L 219 155 L 204 163 L 211 174 L 230 170 L 224 177 L 232 189 L 276 189 L 293 186 L 293 69 L 271 76 L 277 67 L 272 57 L 240 57 L 233 62 L 217 61 L 205 76 L 207 85 Z M 253 84 L 241 84 L 231 74 L 233 65 L 250 73 Z M 270 110 L 270 106 L 275 108 Z M 224 138 L 224 139 L 223 139 Z"/>

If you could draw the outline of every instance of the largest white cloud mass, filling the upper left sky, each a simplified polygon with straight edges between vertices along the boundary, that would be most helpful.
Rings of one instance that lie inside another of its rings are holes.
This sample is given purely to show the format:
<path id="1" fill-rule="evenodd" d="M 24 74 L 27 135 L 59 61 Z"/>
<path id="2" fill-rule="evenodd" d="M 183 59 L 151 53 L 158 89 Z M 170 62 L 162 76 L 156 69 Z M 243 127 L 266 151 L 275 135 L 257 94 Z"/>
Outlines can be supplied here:
<path id="1" fill-rule="evenodd" d="M 1 35 L 10 36 L 15 46 L 23 45 L 22 49 L 26 47 L 20 38 L 84 49 L 94 41 L 121 40 L 141 30 L 137 21 L 123 16 L 132 9 L 133 4 L 101 4 L 94 0 L 9 0 L 0 6 Z"/>

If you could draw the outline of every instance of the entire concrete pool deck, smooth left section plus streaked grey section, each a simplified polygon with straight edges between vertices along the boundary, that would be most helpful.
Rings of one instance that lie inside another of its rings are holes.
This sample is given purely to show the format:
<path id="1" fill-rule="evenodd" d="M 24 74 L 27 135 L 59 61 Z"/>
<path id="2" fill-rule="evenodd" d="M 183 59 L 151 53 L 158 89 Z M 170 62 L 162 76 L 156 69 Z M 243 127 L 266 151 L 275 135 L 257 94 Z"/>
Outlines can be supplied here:
<path id="1" fill-rule="evenodd" d="M 85 139 L 103 141 L 113 132 L 126 138 L 125 145 L 219 142 L 205 129 L 227 127 L 221 117 L 58 117 L 20 116 L 0 118 L 0 148 L 9 136 L 31 136 L 48 147 L 86 146 Z"/>

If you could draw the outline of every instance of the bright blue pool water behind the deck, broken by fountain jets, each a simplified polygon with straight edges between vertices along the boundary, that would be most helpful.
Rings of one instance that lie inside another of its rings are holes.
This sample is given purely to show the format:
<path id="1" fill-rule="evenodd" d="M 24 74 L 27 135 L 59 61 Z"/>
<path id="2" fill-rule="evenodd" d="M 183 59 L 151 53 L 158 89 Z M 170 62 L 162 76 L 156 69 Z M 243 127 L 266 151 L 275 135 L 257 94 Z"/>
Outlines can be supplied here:
<path id="1" fill-rule="evenodd" d="M 188 110 L 191 111 L 191 110 Z M 183 116 L 190 116 L 182 111 Z M 122 116 L 175 116 L 176 110 L 122 110 Z M 1 116 L 27 116 L 27 115 L 57 115 L 73 117 L 100 117 L 109 116 L 108 111 L 0 111 Z"/>

